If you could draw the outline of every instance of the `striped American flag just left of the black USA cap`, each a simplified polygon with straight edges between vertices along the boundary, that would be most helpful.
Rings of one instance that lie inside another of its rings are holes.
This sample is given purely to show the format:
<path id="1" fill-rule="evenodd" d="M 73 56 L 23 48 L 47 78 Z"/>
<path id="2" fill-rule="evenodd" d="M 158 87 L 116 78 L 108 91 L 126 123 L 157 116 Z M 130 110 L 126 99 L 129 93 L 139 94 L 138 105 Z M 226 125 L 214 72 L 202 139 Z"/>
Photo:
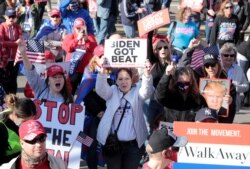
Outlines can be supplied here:
<path id="1" fill-rule="evenodd" d="M 203 57 L 204 57 L 205 53 L 203 51 L 203 47 L 202 46 L 198 46 L 192 55 L 192 60 L 191 60 L 191 64 L 190 67 L 194 70 L 200 66 L 202 66 L 203 64 Z"/>

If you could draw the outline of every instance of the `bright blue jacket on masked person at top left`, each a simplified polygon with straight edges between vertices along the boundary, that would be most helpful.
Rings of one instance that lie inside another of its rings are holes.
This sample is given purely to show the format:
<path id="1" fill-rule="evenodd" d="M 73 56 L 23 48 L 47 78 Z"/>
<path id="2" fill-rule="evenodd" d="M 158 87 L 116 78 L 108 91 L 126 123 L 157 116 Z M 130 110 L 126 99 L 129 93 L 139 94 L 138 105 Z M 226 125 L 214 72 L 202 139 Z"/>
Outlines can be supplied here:
<path id="1" fill-rule="evenodd" d="M 89 34 L 94 35 L 94 24 L 92 18 L 89 16 L 89 12 L 85 9 L 78 9 L 77 11 L 68 10 L 67 7 L 71 0 L 63 0 L 60 3 L 60 11 L 62 14 L 63 24 L 65 25 L 67 32 L 72 33 L 74 21 L 76 18 L 83 18 L 87 25 L 87 31 Z"/>

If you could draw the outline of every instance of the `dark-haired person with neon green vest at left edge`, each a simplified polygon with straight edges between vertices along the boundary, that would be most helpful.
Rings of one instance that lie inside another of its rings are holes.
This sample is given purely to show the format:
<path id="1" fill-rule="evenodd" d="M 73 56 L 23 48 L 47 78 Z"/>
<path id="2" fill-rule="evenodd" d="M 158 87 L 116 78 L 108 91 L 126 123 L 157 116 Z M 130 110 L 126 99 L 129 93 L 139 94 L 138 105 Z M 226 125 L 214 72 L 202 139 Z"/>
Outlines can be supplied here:
<path id="1" fill-rule="evenodd" d="M 6 109 L 0 112 L 0 165 L 21 153 L 18 128 L 23 121 L 36 115 L 35 104 L 30 99 L 9 94 L 4 101 Z"/>

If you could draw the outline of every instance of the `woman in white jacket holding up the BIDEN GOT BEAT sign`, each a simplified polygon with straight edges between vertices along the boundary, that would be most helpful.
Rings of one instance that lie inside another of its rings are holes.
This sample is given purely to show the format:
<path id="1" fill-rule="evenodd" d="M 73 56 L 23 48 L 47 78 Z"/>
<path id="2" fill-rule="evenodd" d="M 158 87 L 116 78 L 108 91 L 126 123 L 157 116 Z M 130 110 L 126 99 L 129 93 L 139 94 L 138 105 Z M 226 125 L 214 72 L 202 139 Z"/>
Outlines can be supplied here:
<path id="1" fill-rule="evenodd" d="M 106 70 L 97 76 L 96 93 L 106 100 L 107 109 L 97 131 L 97 140 L 105 145 L 110 133 L 117 130 L 122 151 L 114 156 L 104 155 L 108 169 L 137 169 L 148 132 L 143 117 L 142 106 L 154 92 L 151 65 L 148 64 L 142 76 L 141 86 L 132 83 L 131 69 L 120 68 L 117 71 L 116 85 L 107 83 Z"/>

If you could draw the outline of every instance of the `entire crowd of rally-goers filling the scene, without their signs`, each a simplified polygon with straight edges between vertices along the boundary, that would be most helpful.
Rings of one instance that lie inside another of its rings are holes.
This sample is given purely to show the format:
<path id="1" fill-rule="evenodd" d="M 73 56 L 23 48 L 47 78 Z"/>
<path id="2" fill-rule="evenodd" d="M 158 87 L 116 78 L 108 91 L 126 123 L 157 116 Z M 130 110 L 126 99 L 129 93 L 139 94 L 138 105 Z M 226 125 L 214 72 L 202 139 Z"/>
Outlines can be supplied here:
<path id="1" fill-rule="evenodd" d="M 51 0 L 0 0 L 0 168 L 66 167 L 46 153 L 46 131 L 34 119 L 37 112 L 30 98 L 84 102 L 82 120 L 88 123 L 83 130 L 94 142 L 87 152 L 83 146 L 82 157 L 90 169 L 97 169 L 99 145 L 109 169 L 137 169 L 145 153 L 149 161 L 142 168 L 170 169 L 178 147 L 185 146 L 177 140 L 184 138 L 158 129 L 160 121 L 233 123 L 241 106 L 250 103 L 250 36 L 245 35 L 250 3 L 180 0 L 167 32 L 155 29 L 138 37 L 137 21 L 170 4 L 171 0 L 63 0 L 52 8 Z M 116 33 L 118 16 L 125 36 Z M 103 67 L 105 40 L 128 38 L 147 40 L 147 49 L 140 49 L 147 50 L 144 68 Z M 30 40 L 44 45 L 50 63 L 45 78 L 27 56 Z M 202 63 L 192 67 L 195 52 L 212 46 L 218 52 L 204 50 Z M 22 63 L 15 62 L 17 53 Z M 68 74 L 53 64 L 62 62 L 70 63 Z M 27 78 L 28 98 L 15 95 L 20 70 Z M 207 82 L 201 89 L 202 79 Z M 116 154 L 106 148 L 111 135 L 121 147 Z"/>

